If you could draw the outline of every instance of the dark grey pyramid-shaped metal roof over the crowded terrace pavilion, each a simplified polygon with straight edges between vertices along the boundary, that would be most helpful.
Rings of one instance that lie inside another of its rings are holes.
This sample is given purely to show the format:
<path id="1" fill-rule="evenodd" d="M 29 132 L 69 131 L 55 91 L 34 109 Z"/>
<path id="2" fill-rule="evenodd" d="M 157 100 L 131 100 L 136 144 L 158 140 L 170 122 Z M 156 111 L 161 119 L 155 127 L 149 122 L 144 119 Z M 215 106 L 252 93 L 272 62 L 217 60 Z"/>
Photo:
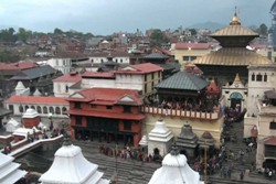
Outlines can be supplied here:
<path id="1" fill-rule="evenodd" d="M 189 74 L 187 72 L 178 72 L 171 77 L 159 83 L 156 88 L 201 90 L 208 86 L 208 82 Z"/>

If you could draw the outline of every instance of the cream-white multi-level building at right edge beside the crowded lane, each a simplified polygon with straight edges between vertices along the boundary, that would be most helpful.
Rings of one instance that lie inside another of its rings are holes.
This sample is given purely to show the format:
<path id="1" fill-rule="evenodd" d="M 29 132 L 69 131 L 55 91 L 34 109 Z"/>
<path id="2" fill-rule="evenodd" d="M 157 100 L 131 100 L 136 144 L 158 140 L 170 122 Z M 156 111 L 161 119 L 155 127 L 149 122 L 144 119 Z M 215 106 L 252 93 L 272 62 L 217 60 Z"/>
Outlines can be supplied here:
<path id="1" fill-rule="evenodd" d="M 276 160 L 276 65 L 248 66 L 247 113 L 244 137 L 256 133 L 256 167 L 275 167 Z"/>

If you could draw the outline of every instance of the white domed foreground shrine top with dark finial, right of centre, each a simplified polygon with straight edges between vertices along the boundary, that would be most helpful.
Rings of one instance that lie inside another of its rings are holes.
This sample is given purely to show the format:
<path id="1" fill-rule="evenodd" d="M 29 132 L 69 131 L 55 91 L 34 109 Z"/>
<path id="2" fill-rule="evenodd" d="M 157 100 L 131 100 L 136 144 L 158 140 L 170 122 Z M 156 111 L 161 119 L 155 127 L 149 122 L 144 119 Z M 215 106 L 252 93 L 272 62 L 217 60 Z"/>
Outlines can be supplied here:
<path id="1" fill-rule="evenodd" d="M 187 158 L 179 154 L 173 145 L 171 152 L 162 161 L 162 166 L 155 171 L 149 184 L 203 184 L 200 174 L 187 163 Z"/>

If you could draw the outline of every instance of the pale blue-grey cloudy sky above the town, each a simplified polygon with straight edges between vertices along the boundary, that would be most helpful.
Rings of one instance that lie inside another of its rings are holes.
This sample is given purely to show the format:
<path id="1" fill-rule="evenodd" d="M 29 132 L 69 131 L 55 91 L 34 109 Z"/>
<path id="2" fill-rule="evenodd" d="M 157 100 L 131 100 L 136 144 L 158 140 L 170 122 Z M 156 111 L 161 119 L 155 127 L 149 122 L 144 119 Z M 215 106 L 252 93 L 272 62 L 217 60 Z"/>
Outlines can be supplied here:
<path id="1" fill-rule="evenodd" d="M 270 26 L 275 0 L 0 0 L 0 25 L 31 31 L 75 30 L 93 34 L 227 24 L 237 7 L 245 26 Z"/>

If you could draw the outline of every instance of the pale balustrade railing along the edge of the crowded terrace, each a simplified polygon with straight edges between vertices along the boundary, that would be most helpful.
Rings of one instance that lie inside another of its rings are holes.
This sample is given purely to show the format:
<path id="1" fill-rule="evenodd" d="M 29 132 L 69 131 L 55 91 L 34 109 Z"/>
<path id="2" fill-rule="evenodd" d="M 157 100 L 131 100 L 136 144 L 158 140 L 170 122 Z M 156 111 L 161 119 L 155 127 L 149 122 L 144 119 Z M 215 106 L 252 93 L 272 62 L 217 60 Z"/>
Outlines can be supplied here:
<path id="1" fill-rule="evenodd" d="M 180 110 L 180 109 L 167 109 L 160 107 L 142 106 L 142 112 L 158 115 L 158 116 L 169 116 L 169 117 L 180 117 L 180 118 L 194 118 L 194 119 L 208 119 L 215 120 L 221 117 L 220 110 L 214 110 L 213 112 L 193 111 L 193 110 Z"/>

